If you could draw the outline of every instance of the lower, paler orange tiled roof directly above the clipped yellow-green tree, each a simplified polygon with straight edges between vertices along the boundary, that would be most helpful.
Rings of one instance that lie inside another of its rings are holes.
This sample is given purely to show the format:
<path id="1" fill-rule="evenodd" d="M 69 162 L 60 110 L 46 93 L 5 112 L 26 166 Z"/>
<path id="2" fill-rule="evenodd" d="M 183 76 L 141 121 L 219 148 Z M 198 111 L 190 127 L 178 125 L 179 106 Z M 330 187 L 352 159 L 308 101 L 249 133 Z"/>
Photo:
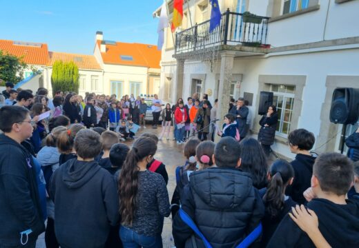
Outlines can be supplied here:
<path id="1" fill-rule="evenodd" d="M 63 62 L 73 61 L 79 69 L 101 70 L 99 63 L 97 63 L 93 55 L 68 54 L 66 52 L 49 52 L 48 54 L 50 56 L 48 65 L 53 65 L 57 60 Z"/>

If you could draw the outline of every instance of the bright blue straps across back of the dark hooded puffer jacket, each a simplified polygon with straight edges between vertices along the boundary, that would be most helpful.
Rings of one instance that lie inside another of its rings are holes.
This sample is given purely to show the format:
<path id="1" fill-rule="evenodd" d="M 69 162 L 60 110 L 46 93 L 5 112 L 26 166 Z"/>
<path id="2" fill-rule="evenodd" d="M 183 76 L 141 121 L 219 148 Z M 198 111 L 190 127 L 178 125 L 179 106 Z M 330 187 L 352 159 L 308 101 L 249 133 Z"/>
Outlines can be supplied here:
<path id="1" fill-rule="evenodd" d="M 199 236 L 202 241 L 204 242 L 204 246 L 206 248 L 212 248 L 211 244 L 208 242 L 206 237 L 201 233 L 200 229 L 195 225 L 194 221 L 191 219 L 190 216 L 182 209 L 180 208 L 178 211 L 179 217 L 188 225 L 188 227 L 191 227 L 191 229 Z M 260 223 L 255 229 L 240 242 L 239 245 L 235 246 L 235 248 L 246 248 L 249 247 L 259 236 L 262 234 L 262 223 Z"/>

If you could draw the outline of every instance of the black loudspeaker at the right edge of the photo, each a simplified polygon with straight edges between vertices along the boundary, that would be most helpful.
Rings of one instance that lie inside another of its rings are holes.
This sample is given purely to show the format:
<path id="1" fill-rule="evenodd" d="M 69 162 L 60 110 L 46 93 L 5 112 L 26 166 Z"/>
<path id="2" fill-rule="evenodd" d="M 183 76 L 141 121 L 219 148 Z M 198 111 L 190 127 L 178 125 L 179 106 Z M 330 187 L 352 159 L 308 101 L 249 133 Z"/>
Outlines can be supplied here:
<path id="1" fill-rule="evenodd" d="M 359 89 L 336 88 L 331 99 L 329 119 L 332 123 L 354 124 L 359 114 Z"/>

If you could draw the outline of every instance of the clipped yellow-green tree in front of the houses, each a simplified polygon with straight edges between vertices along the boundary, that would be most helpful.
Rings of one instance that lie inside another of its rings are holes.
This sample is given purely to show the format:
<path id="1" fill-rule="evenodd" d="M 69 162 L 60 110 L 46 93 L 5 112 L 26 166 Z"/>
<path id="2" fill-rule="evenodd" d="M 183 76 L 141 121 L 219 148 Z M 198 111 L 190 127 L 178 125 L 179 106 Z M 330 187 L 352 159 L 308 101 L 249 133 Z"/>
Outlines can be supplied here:
<path id="1" fill-rule="evenodd" d="M 79 93 L 79 68 L 72 61 L 55 61 L 51 74 L 52 94 L 57 90 Z"/>

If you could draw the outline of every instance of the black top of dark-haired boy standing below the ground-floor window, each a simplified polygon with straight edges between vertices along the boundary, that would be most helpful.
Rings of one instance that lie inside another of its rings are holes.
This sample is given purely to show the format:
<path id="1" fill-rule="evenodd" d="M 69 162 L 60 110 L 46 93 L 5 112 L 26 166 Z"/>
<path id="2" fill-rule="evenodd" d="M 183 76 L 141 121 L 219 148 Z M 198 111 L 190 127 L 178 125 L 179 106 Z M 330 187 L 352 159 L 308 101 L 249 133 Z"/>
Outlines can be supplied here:
<path id="1" fill-rule="evenodd" d="M 303 196 L 303 192 L 311 187 L 311 175 L 313 174 L 313 164 L 316 156 L 297 154 L 295 159 L 291 161 L 294 170 L 294 180 L 292 185 L 288 185 L 285 194 L 298 204 L 307 203 Z"/>

